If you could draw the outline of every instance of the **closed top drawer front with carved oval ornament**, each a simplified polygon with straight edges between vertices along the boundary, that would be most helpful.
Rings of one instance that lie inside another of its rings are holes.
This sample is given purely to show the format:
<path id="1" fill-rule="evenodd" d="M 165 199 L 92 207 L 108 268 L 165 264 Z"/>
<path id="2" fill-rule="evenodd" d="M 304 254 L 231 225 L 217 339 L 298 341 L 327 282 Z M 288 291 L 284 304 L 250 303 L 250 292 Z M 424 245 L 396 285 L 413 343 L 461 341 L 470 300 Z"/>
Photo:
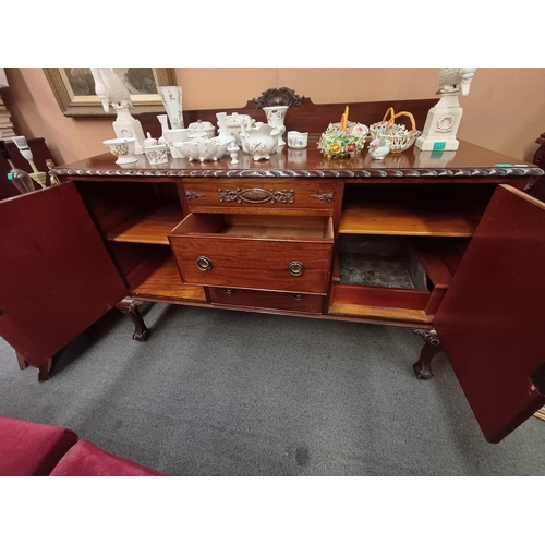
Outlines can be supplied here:
<path id="1" fill-rule="evenodd" d="M 335 182 L 320 180 L 198 180 L 184 182 L 183 187 L 191 211 L 221 211 L 227 207 L 244 211 L 256 209 L 315 210 L 332 213 Z"/>

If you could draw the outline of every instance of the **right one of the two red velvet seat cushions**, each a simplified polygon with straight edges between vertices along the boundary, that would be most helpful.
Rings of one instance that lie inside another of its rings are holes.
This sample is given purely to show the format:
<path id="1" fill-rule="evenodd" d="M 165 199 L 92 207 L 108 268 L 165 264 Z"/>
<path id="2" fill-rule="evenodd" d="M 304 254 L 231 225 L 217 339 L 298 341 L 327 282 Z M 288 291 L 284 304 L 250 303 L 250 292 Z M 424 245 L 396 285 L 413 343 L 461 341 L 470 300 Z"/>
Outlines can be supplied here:
<path id="1" fill-rule="evenodd" d="M 82 439 L 57 464 L 51 476 L 159 476 L 160 471 L 107 452 Z"/>

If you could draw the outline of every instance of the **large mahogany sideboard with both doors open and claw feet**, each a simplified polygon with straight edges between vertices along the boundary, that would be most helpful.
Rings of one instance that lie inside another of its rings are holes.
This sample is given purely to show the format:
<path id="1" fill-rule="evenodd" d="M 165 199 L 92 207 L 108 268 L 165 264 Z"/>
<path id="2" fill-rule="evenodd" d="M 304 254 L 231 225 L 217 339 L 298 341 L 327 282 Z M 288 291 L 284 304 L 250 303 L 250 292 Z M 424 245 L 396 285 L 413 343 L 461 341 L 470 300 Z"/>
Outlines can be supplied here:
<path id="1" fill-rule="evenodd" d="M 44 368 L 113 306 L 145 340 L 144 301 L 409 327 L 416 376 L 444 349 L 501 440 L 545 403 L 545 204 L 524 192 L 543 170 L 465 142 L 327 159 L 318 137 L 269 160 L 55 168 L 60 185 L 0 203 L 0 335 Z"/>

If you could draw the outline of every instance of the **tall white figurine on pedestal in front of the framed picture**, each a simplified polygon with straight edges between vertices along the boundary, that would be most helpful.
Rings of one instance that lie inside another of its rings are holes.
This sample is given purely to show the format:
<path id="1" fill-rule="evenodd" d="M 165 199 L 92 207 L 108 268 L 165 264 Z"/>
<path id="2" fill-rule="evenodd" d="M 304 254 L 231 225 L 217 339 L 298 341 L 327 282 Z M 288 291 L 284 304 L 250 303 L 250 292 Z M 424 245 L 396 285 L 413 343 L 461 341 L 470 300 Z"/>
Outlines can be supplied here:
<path id="1" fill-rule="evenodd" d="M 144 131 L 137 119 L 134 119 L 129 108 L 132 107 L 131 93 L 125 84 L 125 76 L 129 69 L 106 68 L 106 69 L 72 69 L 74 73 L 90 73 L 95 80 L 95 93 L 102 102 L 104 110 L 110 111 L 110 104 L 117 112 L 113 122 L 113 131 L 118 138 L 136 138 L 135 153 L 143 154 Z"/>

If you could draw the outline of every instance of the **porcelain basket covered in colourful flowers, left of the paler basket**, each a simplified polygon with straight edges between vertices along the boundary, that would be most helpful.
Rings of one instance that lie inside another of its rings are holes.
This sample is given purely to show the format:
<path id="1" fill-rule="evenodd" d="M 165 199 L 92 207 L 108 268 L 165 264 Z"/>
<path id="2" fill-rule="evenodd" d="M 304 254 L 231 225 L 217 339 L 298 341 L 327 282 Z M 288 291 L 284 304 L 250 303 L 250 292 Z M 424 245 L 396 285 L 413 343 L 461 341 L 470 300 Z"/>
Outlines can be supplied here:
<path id="1" fill-rule="evenodd" d="M 368 128 L 362 123 L 348 120 L 348 106 L 340 123 L 329 123 L 329 126 L 318 142 L 318 149 L 328 159 L 351 157 L 359 154 L 367 136 Z"/>

